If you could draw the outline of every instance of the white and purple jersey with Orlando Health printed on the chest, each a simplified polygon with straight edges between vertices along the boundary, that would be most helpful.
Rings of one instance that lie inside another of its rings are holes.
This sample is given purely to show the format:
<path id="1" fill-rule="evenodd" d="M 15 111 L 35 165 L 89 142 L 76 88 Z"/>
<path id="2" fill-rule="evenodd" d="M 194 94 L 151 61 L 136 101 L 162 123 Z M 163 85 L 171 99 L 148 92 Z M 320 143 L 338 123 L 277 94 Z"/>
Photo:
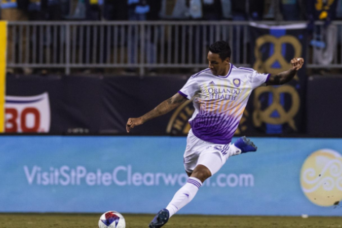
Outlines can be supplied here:
<path id="1" fill-rule="evenodd" d="M 269 78 L 270 74 L 233 64 L 225 76 L 216 76 L 209 68 L 192 75 L 178 93 L 189 100 L 195 97 L 195 112 L 189 120 L 194 135 L 208 142 L 230 143 L 252 90 Z"/>

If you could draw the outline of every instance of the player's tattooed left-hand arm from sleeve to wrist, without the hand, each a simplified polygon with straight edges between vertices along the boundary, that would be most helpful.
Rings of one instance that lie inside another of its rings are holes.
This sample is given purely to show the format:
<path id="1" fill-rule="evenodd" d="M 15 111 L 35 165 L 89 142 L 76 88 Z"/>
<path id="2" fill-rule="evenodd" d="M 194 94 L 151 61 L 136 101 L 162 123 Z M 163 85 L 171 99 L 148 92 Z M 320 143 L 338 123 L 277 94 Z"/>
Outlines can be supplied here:
<path id="1" fill-rule="evenodd" d="M 160 103 L 157 107 L 155 107 L 153 110 L 147 112 L 145 115 L 143 115 L 142 121 L 145 123 L 146 121 L 149 121 L 151 119 L 154 119 L 156 117 L 165 115 L 169 111 L 173 110 L 174 108 L 178 107 L 182 103 L 186 101 L 186 98 L 181 96 L 179 93 L 176 93 L 173 97 L 163 101 Z"/>

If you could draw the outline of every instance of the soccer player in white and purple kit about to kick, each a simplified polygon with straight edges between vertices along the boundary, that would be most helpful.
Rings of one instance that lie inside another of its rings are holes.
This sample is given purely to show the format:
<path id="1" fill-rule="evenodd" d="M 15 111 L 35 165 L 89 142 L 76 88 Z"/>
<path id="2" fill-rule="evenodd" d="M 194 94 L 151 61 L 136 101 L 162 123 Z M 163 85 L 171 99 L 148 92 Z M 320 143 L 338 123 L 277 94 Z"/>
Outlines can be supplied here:
<path id="1" fill-rule="evenodd" d="M 189 178 L 169 205 L 150 222 L 150 228 L 162 227 L 188 204 L 203 182 L 214 175 L 230 156 L 256 151 L 257 147 L 246 137 L 231 144 L 252 90 L 259 86 L 289 82 L 304 63 L 302 58 L 294 58 L 289 70 L 265 74 L 251 68 L 237 68 L 230 62 L 230 57 L 229 44 L 215 42 L 209 47 L 209 68 L 192 75 L 183 88 L 155 109 L 139 118 L 128 119 L 126 130 L 130 132 L 134 127 L 166 114 L 187 99 L 193 99 L 195 107 L 189 120 L 191 130 L 184 153 L 184 167 Z"/>

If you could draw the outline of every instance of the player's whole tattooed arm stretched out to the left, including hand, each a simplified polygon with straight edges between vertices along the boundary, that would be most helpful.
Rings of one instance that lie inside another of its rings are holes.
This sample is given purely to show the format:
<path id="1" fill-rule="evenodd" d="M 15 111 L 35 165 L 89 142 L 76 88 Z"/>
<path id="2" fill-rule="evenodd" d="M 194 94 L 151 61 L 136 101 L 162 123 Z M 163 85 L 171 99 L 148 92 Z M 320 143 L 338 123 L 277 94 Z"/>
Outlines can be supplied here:
<path id="1" fill-rule="evenodd" d="M 147 112 L 145 115 L 139 118 L 129 118 L 126 124 L 126 131 L 130 132 L 134 127 L 139 126 L 145 123 L 146 121 L 165 115 L 169 111 L 173 110 L 174 108 L 184 103 L 186 100 L 187 99 L 185 97 L 183 97 L 179 93 L 176 93 L 171 98 L 160 103 L 153 110 L 150 110 L 149 112 Z"/>

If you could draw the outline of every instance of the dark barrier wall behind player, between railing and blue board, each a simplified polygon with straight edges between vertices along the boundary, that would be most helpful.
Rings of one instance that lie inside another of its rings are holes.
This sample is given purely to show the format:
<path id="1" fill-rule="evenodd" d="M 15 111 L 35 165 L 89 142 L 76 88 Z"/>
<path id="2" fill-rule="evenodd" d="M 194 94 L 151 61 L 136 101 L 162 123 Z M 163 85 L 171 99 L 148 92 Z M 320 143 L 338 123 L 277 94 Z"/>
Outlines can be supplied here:
<path id="1" fill-rule="evenodd" d="M 6 132 L 126 134 L 128 118 L 139 117 L 173 96 L 186 80 L 180 75 L 144 79 L 12 75 L 7 77 Z M 311 136 L 342 137 L 342 77 L 315 76 L 308 85 L 306 118 L 301 125 L 307 125 Z M 286 95 L 284 99 L 291 97 Z M 252 103 L 250 98 L 236 133 L 267 135 L 253 123 Z M 285 106 L 283 114 L 290 109 Z M 193 112 L 188 101 L 132 133 L 186 135 L 190 129 L 187 120 Z"/>

